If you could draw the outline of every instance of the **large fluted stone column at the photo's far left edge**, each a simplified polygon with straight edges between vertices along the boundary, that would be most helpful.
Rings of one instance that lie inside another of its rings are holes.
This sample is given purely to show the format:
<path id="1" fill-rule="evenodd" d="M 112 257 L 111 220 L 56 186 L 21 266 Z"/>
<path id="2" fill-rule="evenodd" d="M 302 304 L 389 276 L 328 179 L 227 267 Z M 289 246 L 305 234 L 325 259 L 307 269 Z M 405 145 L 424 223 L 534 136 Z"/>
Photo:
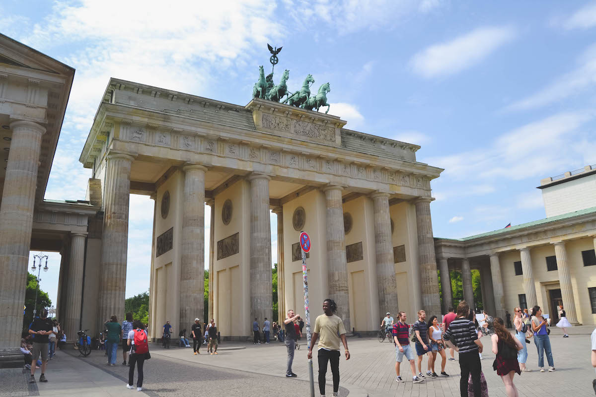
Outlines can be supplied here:
<path id="1" fill-rule="evenodd" d="M 22 367 L 19 350 L 29 266 L 33 205 L 45 128 L 31 121 L 10 124 L 10 143 L 0 207 L 0 368 Z"/>

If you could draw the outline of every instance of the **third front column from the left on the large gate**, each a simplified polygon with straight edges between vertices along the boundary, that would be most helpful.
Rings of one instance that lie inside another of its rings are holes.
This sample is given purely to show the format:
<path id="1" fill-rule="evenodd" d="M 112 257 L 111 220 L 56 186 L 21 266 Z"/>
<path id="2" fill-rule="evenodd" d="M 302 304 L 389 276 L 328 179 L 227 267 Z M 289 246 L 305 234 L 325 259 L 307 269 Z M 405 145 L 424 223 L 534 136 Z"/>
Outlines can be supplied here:
<path id="1" fill-rule="evenodd" d="M 250 182 L 250 323 L 271 318 L 271 223 L 269 219 L 269 180 L 252 174 Z M 252 328 L 251 328 L 252 329 Z"/>

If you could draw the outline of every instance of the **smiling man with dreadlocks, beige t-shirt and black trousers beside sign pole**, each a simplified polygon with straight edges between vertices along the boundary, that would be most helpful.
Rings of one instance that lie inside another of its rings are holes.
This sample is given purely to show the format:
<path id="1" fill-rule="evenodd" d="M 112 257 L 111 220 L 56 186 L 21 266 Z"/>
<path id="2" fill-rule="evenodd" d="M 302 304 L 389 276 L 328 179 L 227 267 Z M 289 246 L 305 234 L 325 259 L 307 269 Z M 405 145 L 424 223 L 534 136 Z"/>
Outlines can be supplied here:
<path id="1" fill-rule="evenodd" d="M 327 374 L 327 361 L 331 362 L 331 373 L 333 373 L 333 396 L 337 396 L 339 390 L 339 341 L 342 339 L 343 348 L 346 351 L 346 360 L 350 360 L 350 352 L 347 349 L 346 328 L 341 318 L 335 315 L 337 311 L 336 302 L 332 299 L 323 301 L 323 312 L 315 321 L 315 330 L 312 333 L 311 346 L 308 348 L 308 358 L 312 358 L 312 346 L 319 339 L 319 391 L 321 397 L 325 397 L 325 375 Z M 338 336 L 339 335 L 339 336 Z"/>

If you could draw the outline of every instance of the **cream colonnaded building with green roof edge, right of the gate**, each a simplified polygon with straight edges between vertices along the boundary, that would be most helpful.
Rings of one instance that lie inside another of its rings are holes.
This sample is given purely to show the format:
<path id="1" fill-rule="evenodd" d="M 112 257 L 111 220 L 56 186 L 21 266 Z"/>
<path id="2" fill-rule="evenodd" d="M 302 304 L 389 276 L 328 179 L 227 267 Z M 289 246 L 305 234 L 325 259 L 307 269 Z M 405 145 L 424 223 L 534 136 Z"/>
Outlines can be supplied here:
<path id="1" fill-rule="evenodd" d="M 462 239 L 434 239 L 442 301 L 452 305 L 449 270 L 462 274 L 473 301 L 471 268 L 480 270 L 483 303 L 505 318 L 539 305 L 556 323 L 563 305 L 572 324 L 596 324 L 596 164 L 548 177 L 547 218 Z"/>

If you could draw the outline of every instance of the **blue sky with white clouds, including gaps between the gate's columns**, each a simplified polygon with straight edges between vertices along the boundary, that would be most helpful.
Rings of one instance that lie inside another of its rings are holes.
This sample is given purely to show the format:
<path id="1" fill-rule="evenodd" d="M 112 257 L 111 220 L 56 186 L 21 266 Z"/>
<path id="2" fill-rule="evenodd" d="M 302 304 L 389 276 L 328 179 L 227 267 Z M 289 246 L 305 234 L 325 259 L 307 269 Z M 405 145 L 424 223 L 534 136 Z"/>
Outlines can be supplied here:
<path id="1" fill-rule="evenodd" d="M 76 68 L 46 198 L 84 197 L 77 159 L 109 77 L 244 105 L 268 42 L 291 89 L 308 73 L 330 82 L 347 128 L 417 143 L 418 161 L 445 168 L 435 236 L 543 218 L 539 180 L 596 164 L 596 2 L 203 3 L 2 2 L 2 33 Z M 131 196 L 127 296 L 148 288 L 152 203 Z"/>

